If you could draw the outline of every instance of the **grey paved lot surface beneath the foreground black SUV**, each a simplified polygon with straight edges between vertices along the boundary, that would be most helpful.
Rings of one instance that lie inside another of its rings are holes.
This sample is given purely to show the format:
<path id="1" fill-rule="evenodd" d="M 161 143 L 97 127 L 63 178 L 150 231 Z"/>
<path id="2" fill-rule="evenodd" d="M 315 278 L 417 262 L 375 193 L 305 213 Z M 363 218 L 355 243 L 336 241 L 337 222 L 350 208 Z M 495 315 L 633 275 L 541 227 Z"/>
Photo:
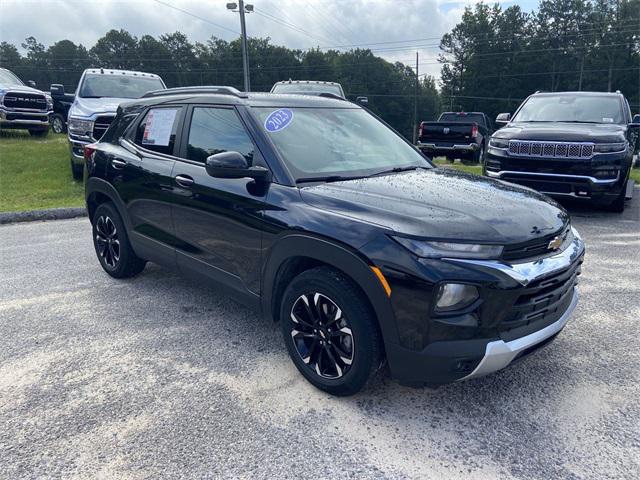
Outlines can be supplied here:
<path id="1" fill-rule="evenodd" d="M 0 478 L 639 478 L 638 197 L 573 210 L 582 297 L 548 348 L 347 399 L 216 291 L 154 265 L 108 277 L 87 219 L 0 227 Z"/>

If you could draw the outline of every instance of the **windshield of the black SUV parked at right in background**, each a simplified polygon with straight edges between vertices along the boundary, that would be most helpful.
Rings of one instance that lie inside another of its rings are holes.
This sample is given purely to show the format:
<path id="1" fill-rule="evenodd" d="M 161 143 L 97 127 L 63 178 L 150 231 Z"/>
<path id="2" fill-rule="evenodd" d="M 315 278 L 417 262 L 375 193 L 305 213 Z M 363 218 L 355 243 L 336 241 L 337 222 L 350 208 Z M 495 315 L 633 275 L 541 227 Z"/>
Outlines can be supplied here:
<path id="1" fill-rule="evenodd" d="M 615 96 L 563 93 L 530 97 L 513 121 L 623 123 L 623 117 Z"/>

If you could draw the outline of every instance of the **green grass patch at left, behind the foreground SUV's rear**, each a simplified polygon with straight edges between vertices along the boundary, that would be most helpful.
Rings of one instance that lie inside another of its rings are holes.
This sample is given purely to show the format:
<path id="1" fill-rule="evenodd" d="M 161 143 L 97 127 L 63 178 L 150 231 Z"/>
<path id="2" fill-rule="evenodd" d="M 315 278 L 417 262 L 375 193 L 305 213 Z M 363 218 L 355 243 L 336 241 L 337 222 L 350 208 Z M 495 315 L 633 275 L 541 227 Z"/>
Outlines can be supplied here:
<path id="1" fill-rule="evenodd" d="M 28 132 L 0 132 L 0 212 L 83 203 L 82 182 L 71 177 L 66 135 L 36 139 Z"/>

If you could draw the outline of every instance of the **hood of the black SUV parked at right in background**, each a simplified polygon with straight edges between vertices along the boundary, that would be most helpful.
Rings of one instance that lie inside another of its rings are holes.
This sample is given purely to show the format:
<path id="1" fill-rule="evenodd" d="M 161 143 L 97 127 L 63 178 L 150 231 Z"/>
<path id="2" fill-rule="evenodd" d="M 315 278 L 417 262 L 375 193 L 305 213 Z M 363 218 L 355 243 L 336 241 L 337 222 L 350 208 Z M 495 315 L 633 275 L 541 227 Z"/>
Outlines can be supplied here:
<path id="1" fill-rule="evenodd" d="M 493 136 L 508 140 L 616 143 L 625 141 L 626 130 L 626 125 L 606 123 L 511 122 Z"/>

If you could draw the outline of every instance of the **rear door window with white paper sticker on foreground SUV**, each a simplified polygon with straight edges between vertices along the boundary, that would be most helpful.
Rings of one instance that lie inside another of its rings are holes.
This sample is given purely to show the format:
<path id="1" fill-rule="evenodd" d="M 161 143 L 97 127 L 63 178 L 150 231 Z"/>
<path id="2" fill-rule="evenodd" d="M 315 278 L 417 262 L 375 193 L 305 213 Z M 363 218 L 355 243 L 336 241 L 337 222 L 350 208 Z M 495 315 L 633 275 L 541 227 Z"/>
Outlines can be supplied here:
<path id="1" fill-rule="evenodd" d="M 173 155 L 180 108 L 152 108 L 138 124 L 134 143 L 153 152 Z"/>

